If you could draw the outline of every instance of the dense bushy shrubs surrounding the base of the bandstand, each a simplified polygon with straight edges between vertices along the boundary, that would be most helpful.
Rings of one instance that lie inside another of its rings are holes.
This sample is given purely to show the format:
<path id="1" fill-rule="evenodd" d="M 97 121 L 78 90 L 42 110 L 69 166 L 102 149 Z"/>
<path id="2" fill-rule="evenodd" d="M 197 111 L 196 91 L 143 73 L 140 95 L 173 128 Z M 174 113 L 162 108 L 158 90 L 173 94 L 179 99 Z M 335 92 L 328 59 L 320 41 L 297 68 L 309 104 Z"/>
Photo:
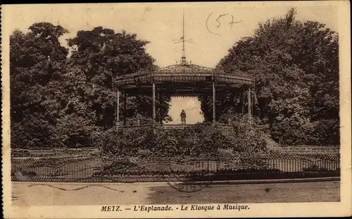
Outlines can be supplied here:
<path id="1" fill-rule="evenodd" d="M 236 155 L 244 157 L 260 156 L 267 153 L 265 140 L 249 126 L 233 124 L 224 131 L 217 124 L 196 124 L 182 130 L 156 130 L 151 127 L 135 128 L 121 133 L 111 129 L 99 136 L 103 154 L 124 157 L 137 154 L 139 157 L 177 157 L 189 156 L 199 159 L 231 160 Z M 230 150 L 227 155 L 219 153 Z"/>

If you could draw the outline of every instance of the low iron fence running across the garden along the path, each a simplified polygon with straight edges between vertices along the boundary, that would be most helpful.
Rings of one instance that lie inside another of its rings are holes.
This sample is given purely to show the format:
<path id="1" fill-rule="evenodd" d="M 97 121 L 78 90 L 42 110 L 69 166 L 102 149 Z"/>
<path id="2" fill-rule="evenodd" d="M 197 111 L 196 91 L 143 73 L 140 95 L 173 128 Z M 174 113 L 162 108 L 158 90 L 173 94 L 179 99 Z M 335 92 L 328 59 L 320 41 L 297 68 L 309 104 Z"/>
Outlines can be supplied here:
<path id="1" fill-rule="evenodd" d="M 23 157 L 11 159 L 11 179 L 26 182 L 153 182 L 318 178 L 340 175 L 339 154 L 265 154 L 260 157 Z"/>

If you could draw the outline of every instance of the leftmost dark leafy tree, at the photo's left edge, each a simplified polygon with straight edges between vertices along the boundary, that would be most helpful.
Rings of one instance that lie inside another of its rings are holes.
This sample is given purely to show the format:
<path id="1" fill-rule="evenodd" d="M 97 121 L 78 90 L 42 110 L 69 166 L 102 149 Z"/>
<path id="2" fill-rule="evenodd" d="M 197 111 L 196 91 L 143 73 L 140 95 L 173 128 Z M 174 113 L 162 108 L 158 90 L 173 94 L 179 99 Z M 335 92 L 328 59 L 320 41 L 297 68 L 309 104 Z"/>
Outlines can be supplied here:
<path id="1" fill-rule="evenodd" d="M 68 32 L 48 22 L 10 36 L 11 144 L 51 147 L 64 98 L 61 84 L 68 49 L 58 37 Z"/>

